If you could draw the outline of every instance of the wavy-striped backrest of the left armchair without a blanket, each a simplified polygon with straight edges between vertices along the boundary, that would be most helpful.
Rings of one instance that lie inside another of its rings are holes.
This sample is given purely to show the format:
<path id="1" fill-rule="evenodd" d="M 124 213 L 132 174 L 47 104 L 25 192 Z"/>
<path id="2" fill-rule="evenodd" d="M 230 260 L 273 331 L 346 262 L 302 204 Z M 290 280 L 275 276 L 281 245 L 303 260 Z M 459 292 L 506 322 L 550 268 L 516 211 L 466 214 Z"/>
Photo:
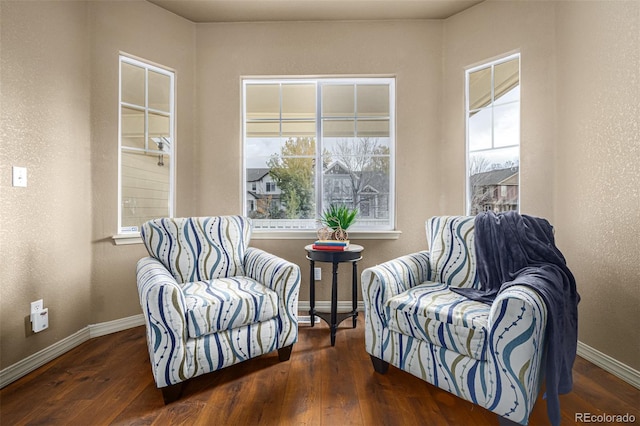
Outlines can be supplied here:
<path id="1" fill-rule="evenodd" d="M 153 219 L 142 241 L 179 283 L 244 275 L 251 219 L 243 216 Z"/>

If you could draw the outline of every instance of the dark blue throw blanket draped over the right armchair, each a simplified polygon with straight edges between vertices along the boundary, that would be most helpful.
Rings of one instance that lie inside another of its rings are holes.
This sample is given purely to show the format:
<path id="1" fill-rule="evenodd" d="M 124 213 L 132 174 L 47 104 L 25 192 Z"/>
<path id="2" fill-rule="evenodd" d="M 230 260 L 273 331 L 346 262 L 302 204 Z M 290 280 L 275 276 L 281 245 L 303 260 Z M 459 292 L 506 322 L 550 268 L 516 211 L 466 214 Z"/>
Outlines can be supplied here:
<path id="1" fill-rule="evenodd" d="M 480 289 L 451 290 L 492 303 L 504 289 L 525 285 L 547 305 L 545 366 L 547 414 L 560 424 L 559 394 L 571 391 L 571 370 L 578 344 L 576 281 L 555 245 L 553 227 L 545 219 L 516 212 L 481 213 L 475 219 L 475 249 Z"/>

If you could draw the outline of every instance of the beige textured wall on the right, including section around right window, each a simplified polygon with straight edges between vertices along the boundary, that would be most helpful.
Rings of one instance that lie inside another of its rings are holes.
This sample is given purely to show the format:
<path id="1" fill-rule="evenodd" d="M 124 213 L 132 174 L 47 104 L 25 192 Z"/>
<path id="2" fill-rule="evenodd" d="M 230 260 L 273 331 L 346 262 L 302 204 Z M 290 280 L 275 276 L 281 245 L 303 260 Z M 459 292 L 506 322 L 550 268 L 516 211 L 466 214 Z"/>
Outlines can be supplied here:
<path id="1" fill-rule="evenodd" d="M 519 50 L 522 212 L 555 226 L 579 340 L 640 368 L 640 3 L 489 1 L 444 28 L 443 210 L 464 205 L 464 67 Z"/>

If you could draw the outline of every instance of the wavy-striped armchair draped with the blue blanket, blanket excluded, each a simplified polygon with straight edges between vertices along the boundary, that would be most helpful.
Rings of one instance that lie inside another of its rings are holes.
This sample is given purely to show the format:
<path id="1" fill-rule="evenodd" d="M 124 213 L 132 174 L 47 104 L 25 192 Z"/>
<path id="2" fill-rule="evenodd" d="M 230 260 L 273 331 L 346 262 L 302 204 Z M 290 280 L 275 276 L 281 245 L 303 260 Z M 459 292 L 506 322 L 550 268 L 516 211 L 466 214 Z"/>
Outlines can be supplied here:
<path id="1" fill-rule="evenodd" d="M 362 272 L 366 350 L 374 368 L 389 364 L 527 424 L 537 399 L 547 310 L 539 294 L 516 285 L 493 304 L 450 287 L 475 287 L 474 218 L 427 221 L 429 251 Z"/>

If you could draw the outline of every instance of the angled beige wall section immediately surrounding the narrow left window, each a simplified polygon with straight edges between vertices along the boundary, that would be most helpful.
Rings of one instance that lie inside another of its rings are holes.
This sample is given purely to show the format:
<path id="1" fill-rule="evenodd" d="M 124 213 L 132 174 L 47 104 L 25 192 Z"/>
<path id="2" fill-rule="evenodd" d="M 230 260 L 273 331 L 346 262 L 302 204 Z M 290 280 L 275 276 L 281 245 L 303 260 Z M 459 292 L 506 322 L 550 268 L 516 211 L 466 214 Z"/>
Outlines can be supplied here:
<path id="1" fill-rule="evenodd" d="M 195 26 L 145 1 L 89 2 L 92 77 L 93 232 L 91 321 L 140 313 L 136 262 L 141 244 L 115 246 L 118 173 L 118 54 L 137 56 L 176 72 L 176 215 L 194 214 L 197 189 L 194 130 Z"/>

